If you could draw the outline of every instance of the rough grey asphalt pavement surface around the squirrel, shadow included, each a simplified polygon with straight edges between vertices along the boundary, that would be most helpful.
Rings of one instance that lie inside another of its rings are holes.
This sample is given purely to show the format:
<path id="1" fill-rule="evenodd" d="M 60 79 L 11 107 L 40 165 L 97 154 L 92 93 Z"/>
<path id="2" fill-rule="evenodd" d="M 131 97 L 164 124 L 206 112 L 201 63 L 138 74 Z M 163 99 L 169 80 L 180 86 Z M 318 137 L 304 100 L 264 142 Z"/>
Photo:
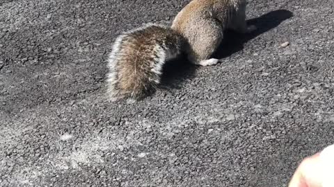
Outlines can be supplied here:
<path id="1" fill-rule="evenodd" d="M 106 102 L 116 35 L 187 2 L 0 0 L 0 186 L 286 186 L 334 143 L 334 1 L 250 1 L 221 64 Z"/>

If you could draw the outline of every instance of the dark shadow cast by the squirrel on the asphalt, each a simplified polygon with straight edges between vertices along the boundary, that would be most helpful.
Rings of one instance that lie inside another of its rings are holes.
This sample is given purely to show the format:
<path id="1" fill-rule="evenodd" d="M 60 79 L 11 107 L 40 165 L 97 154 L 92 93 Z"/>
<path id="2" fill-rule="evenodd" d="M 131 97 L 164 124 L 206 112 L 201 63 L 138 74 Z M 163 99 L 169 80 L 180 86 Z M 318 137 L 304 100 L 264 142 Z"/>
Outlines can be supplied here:
<path id="1" fill-rule="evenodd" d="M 244 48 L 244 44 L 250 39 L 261 35 L 262 33 L 275 28 L 286 19 L 293 16 L 289 10 L 274 10 L 255 19 L 248 19 L 248 25 L 255 25 L 257 30 L 249 34 L 239 34 L 227 30 L 223 42 L 218 47 L 212 57 L 221 59 L 237 53 Z M 189 78 L 192 78 L 199 66 L 191 64 L 186 57 L 182 56 L 171 60 L 164 65 L 164 73 L 161 78 L 161 88 L 178 89 L 180 84 Z"/>

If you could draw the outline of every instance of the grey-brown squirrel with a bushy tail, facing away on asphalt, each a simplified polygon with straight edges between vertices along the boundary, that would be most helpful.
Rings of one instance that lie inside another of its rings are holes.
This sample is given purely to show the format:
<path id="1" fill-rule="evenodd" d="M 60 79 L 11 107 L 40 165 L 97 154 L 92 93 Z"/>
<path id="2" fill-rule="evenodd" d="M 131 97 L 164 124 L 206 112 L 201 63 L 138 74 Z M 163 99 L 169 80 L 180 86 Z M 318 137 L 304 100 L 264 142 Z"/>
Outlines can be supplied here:
<path id="1" fill-rule="evenodd" d="M 200 66 L 217 64 L 210 58 L 223 31 L 250 33 L 246 0 L 193 0 L 175 17 L 171 27 L 147 24 L 118 36 L 108 58 L 106 84 L 111 100 L 139 100 L 154 91 L 166 61 L 184 53 Z"/>

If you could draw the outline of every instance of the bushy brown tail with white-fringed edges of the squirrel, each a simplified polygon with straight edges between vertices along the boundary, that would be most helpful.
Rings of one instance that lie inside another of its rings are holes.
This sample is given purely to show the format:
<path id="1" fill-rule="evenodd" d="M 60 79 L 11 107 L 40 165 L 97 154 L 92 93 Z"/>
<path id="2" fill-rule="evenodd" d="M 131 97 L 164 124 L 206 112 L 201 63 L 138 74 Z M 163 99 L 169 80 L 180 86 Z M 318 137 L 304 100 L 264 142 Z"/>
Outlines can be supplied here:
<path id="1" fill-rule="evenodd" d="M 152 91 L 166 62 L 182 51 L 184 38 L 157 24 L 118 36 L 108 59 L 108 94 L 111 98 L 141 98 Z"/>

